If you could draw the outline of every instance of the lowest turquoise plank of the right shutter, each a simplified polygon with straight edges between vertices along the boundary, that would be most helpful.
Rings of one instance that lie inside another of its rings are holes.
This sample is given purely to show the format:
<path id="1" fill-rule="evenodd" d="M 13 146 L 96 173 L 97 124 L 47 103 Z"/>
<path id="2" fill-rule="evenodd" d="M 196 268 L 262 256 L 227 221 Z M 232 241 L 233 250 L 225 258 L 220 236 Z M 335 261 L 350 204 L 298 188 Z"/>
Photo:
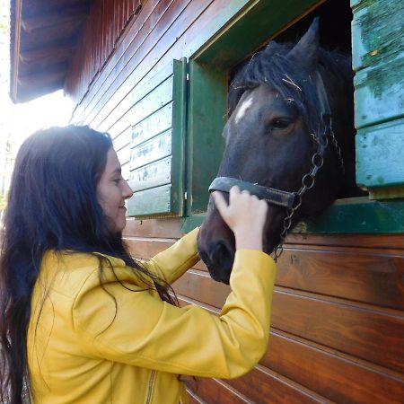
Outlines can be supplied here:
<path id="1" fill-rule="evenodd" d="M 404 101 L 404 98 L 403 98 Z M 404 119 L 356 134 L 356 182 L 365 187 L 404 186 Z"/>

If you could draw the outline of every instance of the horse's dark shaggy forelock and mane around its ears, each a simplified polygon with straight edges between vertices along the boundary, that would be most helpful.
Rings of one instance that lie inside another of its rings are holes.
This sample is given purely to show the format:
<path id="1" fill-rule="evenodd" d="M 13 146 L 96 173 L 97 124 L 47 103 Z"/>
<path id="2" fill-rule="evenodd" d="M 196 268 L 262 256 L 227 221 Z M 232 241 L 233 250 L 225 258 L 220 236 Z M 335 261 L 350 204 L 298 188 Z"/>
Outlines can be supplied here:
<path id="1" fill-rule="evenodd" d="M 317 61 L 301 61 L 289 57 L 293 43 L 272 41 L 268 47 L 254 54 L 234 75 L 229 89 L 229 116 L 242 98 L 242 93 L 267 83 L 289 102 L 294 102 L 307 127 L 315 133 L 324 130 L 321 114 L 321 101 L 311 75 L 310 66 L 317 66 L 323 81 L 332 76 L 337 80 L 339 90 L 352 94 L 351 58 L 337 51 L 317 49 Z M 309 63 L 307 63 L 309 62 Z M 329 75 L 329 76 L 328 76 Z M 341 88 L 342 86 L 342 88 Z M 352 97 L 352 95 L 351 95 Z"/>

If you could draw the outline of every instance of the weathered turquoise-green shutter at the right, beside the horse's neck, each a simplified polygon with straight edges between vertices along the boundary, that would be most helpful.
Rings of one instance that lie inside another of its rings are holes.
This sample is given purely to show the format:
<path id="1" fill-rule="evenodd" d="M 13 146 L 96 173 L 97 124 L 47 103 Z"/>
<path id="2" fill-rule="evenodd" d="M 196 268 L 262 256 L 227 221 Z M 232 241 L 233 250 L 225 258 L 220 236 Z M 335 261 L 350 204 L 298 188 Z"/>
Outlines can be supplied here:
<path id="1" fill-rule="evenodd" d="M 356 71 L 356 182 L 404 197 L 404 2 L 351 0 Z"/>

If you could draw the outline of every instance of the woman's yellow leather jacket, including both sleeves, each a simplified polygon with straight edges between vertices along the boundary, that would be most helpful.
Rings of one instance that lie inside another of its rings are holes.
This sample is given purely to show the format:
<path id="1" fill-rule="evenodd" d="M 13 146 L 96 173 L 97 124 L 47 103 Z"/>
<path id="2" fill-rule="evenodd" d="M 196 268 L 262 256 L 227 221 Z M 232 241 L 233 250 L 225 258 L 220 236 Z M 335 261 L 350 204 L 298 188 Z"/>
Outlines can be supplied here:
<path id="1" fill-rule="evenodd" d="M 172 283 L 198 262 L 197 234 L 145 267 Z M 27 342 L 35 404 L 186 403 L 178 374 L 234 378 L 263 356 L 276 272 L 267 254 L 236 252 L 233 292 L 218 317 L 162 302 L 121 259 L 109 259 L 102 287 L 92 255 L 44 256 Z"/>

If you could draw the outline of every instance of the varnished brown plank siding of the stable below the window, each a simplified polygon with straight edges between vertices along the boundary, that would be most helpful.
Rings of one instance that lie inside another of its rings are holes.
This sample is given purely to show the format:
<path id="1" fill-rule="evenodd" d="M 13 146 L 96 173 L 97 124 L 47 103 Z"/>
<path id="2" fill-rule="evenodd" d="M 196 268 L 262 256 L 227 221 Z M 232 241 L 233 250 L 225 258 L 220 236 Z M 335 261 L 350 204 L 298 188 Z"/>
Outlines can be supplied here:
<path id="1" fill-rule="evenodd" d="M 178 229 L 178 219 L 130 220 L 125 237 L 148 259 Z M 189 379 L 189 388 L 207 403 L 401 403 L 403 276 L 401 235 L 292 234 L 278 262 L 266 355 L 240 379 Z M 180 304 L 215 314 L 229 293 L 201 262 L 174 287 Z"/>

